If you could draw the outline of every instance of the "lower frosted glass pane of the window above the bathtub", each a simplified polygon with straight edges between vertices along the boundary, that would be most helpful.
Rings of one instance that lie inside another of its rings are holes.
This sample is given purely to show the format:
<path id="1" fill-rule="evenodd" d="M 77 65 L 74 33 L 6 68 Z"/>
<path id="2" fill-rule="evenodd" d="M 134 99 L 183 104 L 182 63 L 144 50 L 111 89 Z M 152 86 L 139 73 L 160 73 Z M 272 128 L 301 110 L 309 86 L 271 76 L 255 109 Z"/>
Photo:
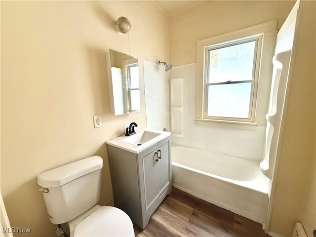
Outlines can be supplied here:
<path id="1" fill-rule="evenodd" d="M 208 85 L 207 116 L 248 118 L 251 84 Z"/>

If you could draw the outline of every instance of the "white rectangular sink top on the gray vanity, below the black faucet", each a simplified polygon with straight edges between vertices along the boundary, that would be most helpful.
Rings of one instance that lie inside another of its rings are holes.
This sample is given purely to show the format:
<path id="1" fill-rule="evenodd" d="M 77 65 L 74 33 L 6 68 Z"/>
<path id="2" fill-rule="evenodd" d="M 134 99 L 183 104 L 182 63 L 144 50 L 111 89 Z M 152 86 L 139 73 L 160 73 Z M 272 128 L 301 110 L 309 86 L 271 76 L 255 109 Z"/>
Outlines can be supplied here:
<path id="1" fill-rule="evenodd" d="M 152 129 L 136 130 L 136 134 L 128 137 L 124 135 L 119 136 L 106 141 L 106 144 L 137 154 L 160 140 L 170 136 L 170 134 L 170 132 Z"/>

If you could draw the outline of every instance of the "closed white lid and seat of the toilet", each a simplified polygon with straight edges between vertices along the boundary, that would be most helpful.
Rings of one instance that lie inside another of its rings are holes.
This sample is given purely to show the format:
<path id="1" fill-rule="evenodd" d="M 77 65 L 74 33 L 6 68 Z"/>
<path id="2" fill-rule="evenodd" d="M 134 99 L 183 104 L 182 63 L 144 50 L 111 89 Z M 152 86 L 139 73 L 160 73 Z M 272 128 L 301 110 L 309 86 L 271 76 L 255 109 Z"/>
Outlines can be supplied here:
<path id="1" fill-rule="evenodd" d="M 133 223 L 122 210 L 101 206 L 75 227 L 75 237 L 134 237 Z"/>

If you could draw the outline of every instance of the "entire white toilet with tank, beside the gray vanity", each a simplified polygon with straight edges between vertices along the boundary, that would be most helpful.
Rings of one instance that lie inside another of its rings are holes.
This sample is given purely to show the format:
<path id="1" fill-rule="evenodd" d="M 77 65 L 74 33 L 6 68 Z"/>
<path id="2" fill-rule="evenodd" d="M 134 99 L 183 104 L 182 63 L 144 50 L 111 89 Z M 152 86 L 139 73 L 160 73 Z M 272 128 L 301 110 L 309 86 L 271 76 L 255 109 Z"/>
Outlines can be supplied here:
<path id="1" fill-rule="evenodd" d="M 93 156 L 38 176 L 49 221 L 69 226 L 70 237 L 134 237 L 133 223 L 122 210 L 100 206 L 103 160 Z"/>

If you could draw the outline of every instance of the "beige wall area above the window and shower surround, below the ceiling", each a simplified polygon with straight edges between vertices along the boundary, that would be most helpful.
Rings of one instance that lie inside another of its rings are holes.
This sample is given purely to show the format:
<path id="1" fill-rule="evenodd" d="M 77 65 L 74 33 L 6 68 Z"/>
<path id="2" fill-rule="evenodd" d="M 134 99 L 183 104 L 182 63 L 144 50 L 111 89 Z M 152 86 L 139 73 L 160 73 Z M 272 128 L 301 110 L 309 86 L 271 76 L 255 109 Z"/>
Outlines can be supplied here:
<path id="1" fill-rule="evenodd" d="M 271 20 L 279 29 L 295 1 L 207 1 L 170 18 L 170 63 L 197 61 L 197 40 Z"/>

